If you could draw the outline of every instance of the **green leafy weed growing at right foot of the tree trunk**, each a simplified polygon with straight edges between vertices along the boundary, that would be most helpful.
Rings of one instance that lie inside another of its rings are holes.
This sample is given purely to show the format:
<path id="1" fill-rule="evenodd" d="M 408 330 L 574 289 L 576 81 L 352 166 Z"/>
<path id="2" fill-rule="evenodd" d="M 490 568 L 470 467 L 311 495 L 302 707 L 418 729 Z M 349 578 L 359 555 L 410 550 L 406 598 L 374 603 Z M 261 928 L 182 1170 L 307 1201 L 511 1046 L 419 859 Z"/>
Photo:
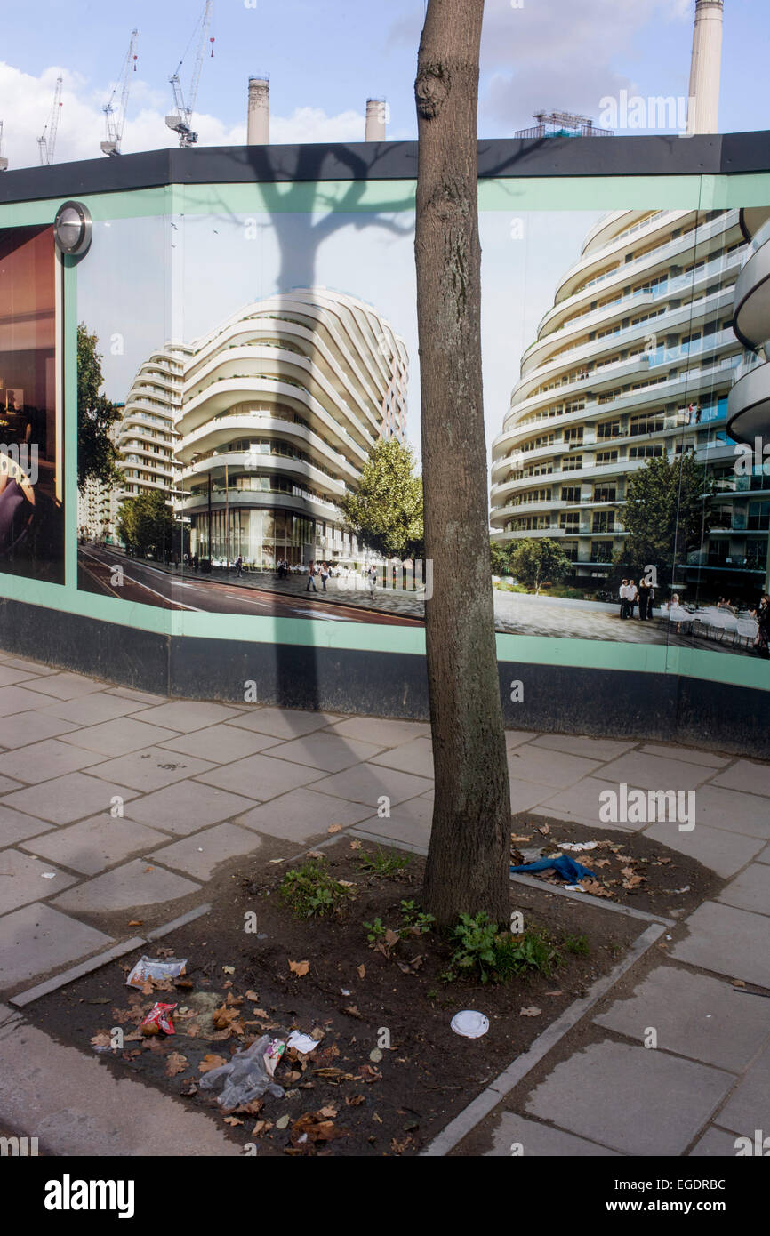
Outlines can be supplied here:
<path id="1" fill-rule="evenodd" d="M 451 936 L 457 947 L 441 975 L 445 983 L 454 983 L 462 974 L 482 983 L 507 983 L 527 970 L 549 975 L 561 960 L 546 932 L 530 928 L 522 936 L 512 936 L 501 931 L 483 910 L 476 916 L 460 915 Z"/>

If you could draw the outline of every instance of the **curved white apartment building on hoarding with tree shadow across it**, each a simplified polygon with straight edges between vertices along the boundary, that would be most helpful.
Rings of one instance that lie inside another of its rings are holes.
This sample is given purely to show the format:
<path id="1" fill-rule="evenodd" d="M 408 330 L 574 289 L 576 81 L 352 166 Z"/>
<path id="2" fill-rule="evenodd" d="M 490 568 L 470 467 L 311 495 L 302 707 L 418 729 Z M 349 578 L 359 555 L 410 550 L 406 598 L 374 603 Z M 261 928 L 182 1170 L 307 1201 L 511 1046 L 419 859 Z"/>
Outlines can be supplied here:
<path id="1" fill-rule="evenodd" d="M 177 514 L 200 557 L 355 557 L 340 501 L 370 449 L 402 438 L 403 340 L 355 297 L 305 288 L 239 310 L 184 358 Z"/>

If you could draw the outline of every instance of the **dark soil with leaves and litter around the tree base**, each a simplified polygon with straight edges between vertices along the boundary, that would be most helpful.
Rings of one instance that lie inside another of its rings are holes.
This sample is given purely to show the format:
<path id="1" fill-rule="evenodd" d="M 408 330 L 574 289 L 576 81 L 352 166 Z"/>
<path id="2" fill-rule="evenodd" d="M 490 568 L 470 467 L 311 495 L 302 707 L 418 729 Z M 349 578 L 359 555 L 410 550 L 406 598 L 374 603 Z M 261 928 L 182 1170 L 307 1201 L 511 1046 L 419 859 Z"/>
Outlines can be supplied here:
<path id="1" fill-rule="evenodd" d="M 528 831 L 519 819 L 513 827 L 522 834 Z M 576 828 L 560 826 L 559 839 L 583 839 L 575 834 Z M 534 837 L 538 844 L 541 834 Z M 603 840 L 612 837 L 601 833 Z M 649 860 L 650 885 L 667 879 L 669 868 L 676 871 L 676 886 L 680 879 L 692 883 L 692 875 L 681 873 L 697 864 L 643 838 L 620 837 L 627 854 L 633 847 L 639 863 Z M 436 933 L 409 936 L 389 957 L 367 943 L 363 921 L 379 917 L 386 926 L 398 927 L 402 899 L 419 904 L 424 869 L 421 858 L 408 855 L 409 865 L 396 878 L 367 874 L 361 859 L 374 850 L 350 838 L 325 848 L 334 879 L 353 885 L 355 897 L 339 921 L 295 918 L 277 896 L 283 874 L 289 865 L 298 865 L 297 859 L 273 865 L 263 859 L 241 861 L 237 879 L 230 874 L 218 881 L 219 895 L 210 887 L 210 912 L 145 949 L 153 957 L 188 958 L 179 983 L 132 991 L 125 981 L 137 952 L 37 1000 L 26 1010 L 27 1016 L 54 1038 L 80 1049 L 100 1049 L 106 1067 L 129 1070 L 179 1096 L 178 1101 L 227 1121 L 222 1125 L 227 1135 L 256 1147 L 258 1154 L 418 1154 L 617 964 L 644 923 L 612 912 L 599 899 L 564 897 L 545 883 L 541 890 L 513 884 L 512 910 L 523 912 L 525 929 L 548 931 L 560 954 L 557 967 L 550 975 L 530 971 L 499 986 L 445 984 L 440 975 L 451 946 Z M 614 855 L 609 849 L 602 853 Z M 654 855 L 671 863 L 653 868 Z M 650 887 L 641 894 L 640 887 L 633 890 L 633 897 L 628 892 L 629 904 L 640 905 L 639 897 L 651 895 Z M 658 905 L 666 897 L 661 895 Z M 251 913 L 256 915 L 256 932 L 245 931 Z M 587 953 L 570 952 L 565 947 L 570 937 L 585 937 Z M 294 973 L 290 962 L 308 962 L 307 973 Z M 156 1001 L 178 1005 L 172 1014 L 176 1033 L 145 1038 L 137 1027 Z M 222 1005 L 219 1021 L 230 1016 L 232 1025 L 216 1030 L 211 1014 Z M 478 1039 L 459 1037 L 450 1021 L 462 1009 L 486 1014 L 488 1033 Z M 522 1010 L 535 1011 L 523 1015 Z M 104 1037 L 91 1047 L 94 1036 L 109 1036 L 114 1027 L 121 1027 L 127 1038 L 122 1049 L 105 1049 Z M 289 1051 L 279 1062 L 276 1080 L 286 1088 L 283 1098 L 266 1095 L 247 1111 L 226 1112 L 215 1095 L 199 1089 L 205 1056 L 227 1060 L 262 1033 L 286 1037 L 293 1028 L 323 1037 L 310 1056 Z M 389 1047 L 383 1032 L 389 1035 Z M 377 1051 L 381 1058 L 372 1059 Z M 284 1116 L 289 1117 L 288 1127 L 278 1127 Z"/>

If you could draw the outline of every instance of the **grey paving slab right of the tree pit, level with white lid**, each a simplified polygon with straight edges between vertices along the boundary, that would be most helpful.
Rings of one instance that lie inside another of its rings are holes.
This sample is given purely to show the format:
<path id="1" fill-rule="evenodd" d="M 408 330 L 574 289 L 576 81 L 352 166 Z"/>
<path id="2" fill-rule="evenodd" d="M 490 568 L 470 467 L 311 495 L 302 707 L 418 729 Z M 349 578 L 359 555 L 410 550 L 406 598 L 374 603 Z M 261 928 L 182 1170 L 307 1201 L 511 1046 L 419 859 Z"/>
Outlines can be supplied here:
<path id="1" fill-rule="evenodd" d="M 616 1000 L 594 1021 L 639 1043 L 648 1027 L 654 1027 L 655 1051 L 739 1073 L 770 1035 L 768 1010 L 761 1005 L 761 1000 L 735 995 L 724 980 L 662 964 L 632 996 Z"/>

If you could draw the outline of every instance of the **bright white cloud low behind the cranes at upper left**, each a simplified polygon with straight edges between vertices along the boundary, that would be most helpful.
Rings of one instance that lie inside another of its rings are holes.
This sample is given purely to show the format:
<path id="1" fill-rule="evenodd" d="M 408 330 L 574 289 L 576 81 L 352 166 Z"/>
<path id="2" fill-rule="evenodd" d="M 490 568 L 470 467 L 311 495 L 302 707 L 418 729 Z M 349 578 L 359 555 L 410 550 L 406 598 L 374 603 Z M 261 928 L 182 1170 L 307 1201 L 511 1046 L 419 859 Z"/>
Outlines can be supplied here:
<path id="1" fill-rule="evenodd" d="M 99 143 L 106 137 L 103 104 L 109 98 L 109 89 L 103 98 L 79 74 L 67 69 L 51 67 L 33 77 L 0 62 L 0 120 L 5 121 L 2 153 L 11 168 L 33 167 L 40 162 L 37 138 L 49 120 L 59 74 L 64 85 L 56 162 L 103 157 Z M 141 79 L 132 83 L 122 152 L 133 154 L 176 146 L 177 137 L 164 122 L 168 110 L 171 99 L 166 105 L 157 89 Z M 245 119 L 229 125 L 218 116 L 197 114 L 193 127 L 201 146 L 240 146 L 246 141 Z M 323 108 L 295 108 L 290 116 L 271 116 L 271 141 L 276 143 L 363 141 L 363 112 L 355 110 L 330 116 Z"/>

